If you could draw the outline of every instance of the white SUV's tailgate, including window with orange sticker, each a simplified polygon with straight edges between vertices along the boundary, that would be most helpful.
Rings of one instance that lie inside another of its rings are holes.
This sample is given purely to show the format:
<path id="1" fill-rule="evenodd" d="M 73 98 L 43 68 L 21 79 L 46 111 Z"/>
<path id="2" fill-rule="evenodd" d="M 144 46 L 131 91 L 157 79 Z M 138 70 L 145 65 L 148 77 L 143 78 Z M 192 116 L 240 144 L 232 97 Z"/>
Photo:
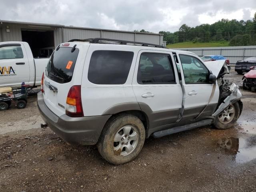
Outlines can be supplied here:
<path id="1" fill-rule="evenodd" d="M 65 114 L 69 89 L 73 85 L 81 85 L 86 46 L 78 44 L 72 51 L 76 43 L 56 48 L 46 67 L 44 102 L 57 116 Z"/>

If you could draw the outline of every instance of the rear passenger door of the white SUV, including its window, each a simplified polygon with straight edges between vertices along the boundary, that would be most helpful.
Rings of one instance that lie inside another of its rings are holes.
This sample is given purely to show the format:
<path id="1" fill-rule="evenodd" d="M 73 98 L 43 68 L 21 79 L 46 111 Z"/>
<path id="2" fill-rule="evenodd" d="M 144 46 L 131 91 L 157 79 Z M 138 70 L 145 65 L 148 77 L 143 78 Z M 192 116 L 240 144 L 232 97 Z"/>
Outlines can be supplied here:
<path id="1" fill-rule="evenodd" d="M 132 87 L 141 110 L 149 118 L 151 132 L 175 123 L 180 113 L 182 88 L 173 64 L 171 52 L 138 52 Z"/>

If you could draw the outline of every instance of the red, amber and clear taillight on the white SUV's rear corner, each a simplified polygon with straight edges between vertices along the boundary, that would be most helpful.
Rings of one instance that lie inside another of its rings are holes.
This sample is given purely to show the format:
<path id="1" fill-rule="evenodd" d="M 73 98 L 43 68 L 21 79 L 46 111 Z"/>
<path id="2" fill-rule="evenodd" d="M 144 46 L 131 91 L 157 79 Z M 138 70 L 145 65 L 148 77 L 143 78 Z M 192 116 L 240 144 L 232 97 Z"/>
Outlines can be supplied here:
<path id="1" fill-rule="evenodd" d="M 81 86 L 72 86 L 66 101 L 66 114 L 70 117 L 84 116 L 81 100 Z"/>

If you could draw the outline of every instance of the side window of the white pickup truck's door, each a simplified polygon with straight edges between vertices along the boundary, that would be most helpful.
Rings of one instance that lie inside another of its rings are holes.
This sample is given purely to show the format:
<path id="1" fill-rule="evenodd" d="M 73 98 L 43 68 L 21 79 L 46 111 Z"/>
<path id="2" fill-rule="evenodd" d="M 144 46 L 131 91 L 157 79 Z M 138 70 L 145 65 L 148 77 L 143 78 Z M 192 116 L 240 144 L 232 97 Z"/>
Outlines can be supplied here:
<path id="1" fill-rule="evenodd" d="M 23 58 L 21 46 L 3 46 L 0 47 L 0 59 L 18 59 Z"/>

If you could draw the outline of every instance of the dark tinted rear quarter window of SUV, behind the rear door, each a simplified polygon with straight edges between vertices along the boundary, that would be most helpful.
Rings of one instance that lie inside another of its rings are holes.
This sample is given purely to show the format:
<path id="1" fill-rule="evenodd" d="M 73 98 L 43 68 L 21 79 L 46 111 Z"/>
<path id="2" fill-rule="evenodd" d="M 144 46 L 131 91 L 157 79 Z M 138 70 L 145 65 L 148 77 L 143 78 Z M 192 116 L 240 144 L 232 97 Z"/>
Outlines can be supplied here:
<path id="1" fill-rule="evenodd" d="M 124 84 L 133 55 L 133 52 L 128 51 L 94 51 L 90 60 L 88 80 L 94 84 Z"/>

